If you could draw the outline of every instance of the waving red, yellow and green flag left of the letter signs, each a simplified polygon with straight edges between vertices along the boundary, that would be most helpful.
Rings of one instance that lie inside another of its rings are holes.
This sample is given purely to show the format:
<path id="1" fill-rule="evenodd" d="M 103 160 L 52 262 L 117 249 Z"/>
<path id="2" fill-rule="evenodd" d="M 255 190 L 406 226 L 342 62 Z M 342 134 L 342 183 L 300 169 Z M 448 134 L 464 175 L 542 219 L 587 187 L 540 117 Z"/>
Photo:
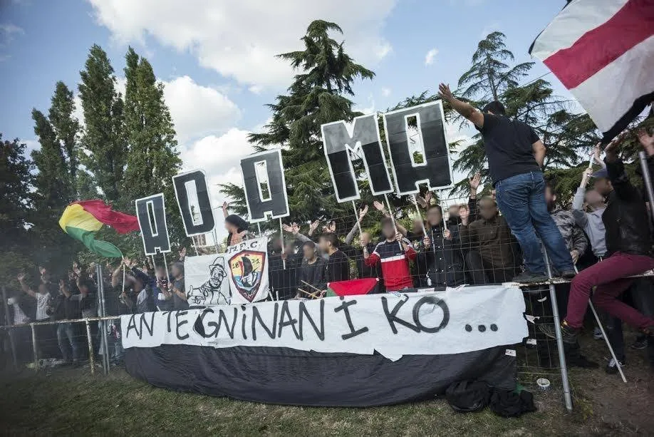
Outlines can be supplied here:
<path id="1" fill-rule="evenodd" d="M 119 234 L 139 230 L 138 219 L 133 215 L 114 211 L 102 200 L 82 200 L 66 207 L 59 219 L 63 232 L 80 240 L 93 253 L 102 257 L 123 257 L 118 247 L 110 242 L 95 240 L 95 232 L 102 225 L 113 227 Z"/>

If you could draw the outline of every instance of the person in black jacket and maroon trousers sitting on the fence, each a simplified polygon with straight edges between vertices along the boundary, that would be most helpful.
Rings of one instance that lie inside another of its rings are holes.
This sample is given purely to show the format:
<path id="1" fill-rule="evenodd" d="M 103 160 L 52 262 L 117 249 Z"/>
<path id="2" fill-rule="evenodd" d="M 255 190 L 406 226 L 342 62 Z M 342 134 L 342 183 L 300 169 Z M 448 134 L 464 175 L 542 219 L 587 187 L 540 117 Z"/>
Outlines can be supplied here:
<path id="1" fill-rule="evenodd" d="M 606 146 L 606 169 L 593 174 L 595 189 L 607 197 L 602 220 L 608 257 L 582 270 L 572 281 L 568 311 L 561 322 L 561 335 L 569 343 L 576 341 L 593 287 L 593 302 L 599 309 L 640 329 L 643 334 L 654 334 L 654 319 L 618 300 L 633 283 L 631 276 L 654 268 L 654 258 L 651 257 L 647 207 L 638 188 L 629 181 L 617 149 L 615 140 Z M 540 325 L 540 328 L 546 335 L 556 338 L 553 325 Z"/>

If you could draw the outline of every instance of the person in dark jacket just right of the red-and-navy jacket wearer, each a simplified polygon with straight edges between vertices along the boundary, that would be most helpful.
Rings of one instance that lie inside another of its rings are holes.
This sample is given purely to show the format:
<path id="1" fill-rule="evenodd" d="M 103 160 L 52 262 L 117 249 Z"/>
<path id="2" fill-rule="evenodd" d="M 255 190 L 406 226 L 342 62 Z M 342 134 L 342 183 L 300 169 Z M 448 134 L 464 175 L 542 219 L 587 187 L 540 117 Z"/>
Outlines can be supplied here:
<path id="1" fill-rule="evenodd" d="M 418 253 L 418 261 L 427 262 L 428 285 L 438 289 L 458 287 L 465 283 L 461 240 L 457 225 L 444 229 L 442 209 L 432 205 L 427 210 L 427 235 L 423 240 L 425 249 Z"/>

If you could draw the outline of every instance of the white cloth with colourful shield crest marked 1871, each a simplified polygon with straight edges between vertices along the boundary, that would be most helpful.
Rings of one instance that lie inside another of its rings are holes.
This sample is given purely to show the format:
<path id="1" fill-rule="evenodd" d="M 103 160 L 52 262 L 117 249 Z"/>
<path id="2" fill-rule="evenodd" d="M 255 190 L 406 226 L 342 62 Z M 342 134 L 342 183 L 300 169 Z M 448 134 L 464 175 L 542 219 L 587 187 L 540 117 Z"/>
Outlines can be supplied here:
<path id="1" fill-rule="evenodd" d="M 228 247 L 232 304 L 257 302 L 268 297 L 266 245 L 266 237 L 262 237 Z"/>

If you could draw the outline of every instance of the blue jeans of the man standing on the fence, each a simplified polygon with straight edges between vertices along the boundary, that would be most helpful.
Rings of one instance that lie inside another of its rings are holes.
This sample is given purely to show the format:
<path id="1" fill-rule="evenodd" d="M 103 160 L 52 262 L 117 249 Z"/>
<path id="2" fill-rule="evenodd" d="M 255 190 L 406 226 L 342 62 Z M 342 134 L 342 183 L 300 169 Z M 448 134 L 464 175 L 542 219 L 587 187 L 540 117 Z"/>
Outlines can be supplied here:
<path id="1" fill-rule="evenodd" d="M 540 240 L 559 272 L 573 270 L 572 258 L 545 203 L 543 173 L 515 175 L 495 184 L 497 205 L 522 248 L 524 265 L 531 273 L 545 273 Z"/>

